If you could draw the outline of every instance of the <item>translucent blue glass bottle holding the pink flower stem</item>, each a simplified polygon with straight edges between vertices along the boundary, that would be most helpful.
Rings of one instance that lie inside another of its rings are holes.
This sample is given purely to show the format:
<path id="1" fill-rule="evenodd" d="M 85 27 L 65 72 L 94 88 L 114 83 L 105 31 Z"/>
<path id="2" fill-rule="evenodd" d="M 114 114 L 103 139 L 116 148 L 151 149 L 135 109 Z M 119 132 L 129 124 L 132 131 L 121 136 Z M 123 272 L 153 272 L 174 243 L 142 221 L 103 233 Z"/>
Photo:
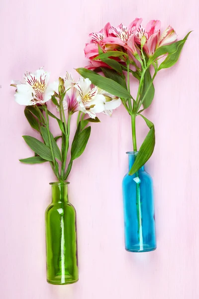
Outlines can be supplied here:
<path id="1" fill-rule="evenodd" d="M 137 151 L 128 151 L 129 170 Z M 122 181 L 124 207 L 125 249 L 146 252 L 156 249 L 153 180 L 142 166 L 135 174 L 124 176 Z"/>

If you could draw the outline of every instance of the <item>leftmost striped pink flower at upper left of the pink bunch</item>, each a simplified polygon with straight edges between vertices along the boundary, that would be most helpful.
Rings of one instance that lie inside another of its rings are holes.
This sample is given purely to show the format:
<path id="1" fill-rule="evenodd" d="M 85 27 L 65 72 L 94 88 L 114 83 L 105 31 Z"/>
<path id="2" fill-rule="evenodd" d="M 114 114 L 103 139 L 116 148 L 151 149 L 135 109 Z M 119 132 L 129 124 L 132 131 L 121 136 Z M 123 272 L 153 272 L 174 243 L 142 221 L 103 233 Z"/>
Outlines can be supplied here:
<path id="1" fill-rule="evenodd" d="M 104 28 L 100 30 L 100 32 L 92 32 L 89 34 L 91 41 L 90 43 L 87 43 L 86 47 L 84 48 L 86 58 L 92 59 L 99 55 L 98 45 L 105 50 L 104 38 L 109 36 L 109 28 L 110 23 L 107 23 Z"/>

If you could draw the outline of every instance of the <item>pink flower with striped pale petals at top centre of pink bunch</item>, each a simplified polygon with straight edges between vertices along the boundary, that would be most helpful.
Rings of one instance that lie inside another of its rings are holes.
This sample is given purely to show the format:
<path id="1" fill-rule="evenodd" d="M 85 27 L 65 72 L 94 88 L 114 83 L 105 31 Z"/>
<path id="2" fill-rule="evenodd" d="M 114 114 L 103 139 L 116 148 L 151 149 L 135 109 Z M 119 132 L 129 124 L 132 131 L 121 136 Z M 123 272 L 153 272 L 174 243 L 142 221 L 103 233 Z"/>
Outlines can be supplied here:
<path id="1" fill-rule="evenodd" d="M 130 50 L 133 54 L 136 54 L 136 47 L 134 44 L 134 37 L 142 22 L 142 18 L 136 18 L 132 21 L 129 26 L 125 26 L 121 23 L 117 27 L 110 27 L 112 32 L 111 36 L 104 38 L 106 44 L 117 44 Z"/>

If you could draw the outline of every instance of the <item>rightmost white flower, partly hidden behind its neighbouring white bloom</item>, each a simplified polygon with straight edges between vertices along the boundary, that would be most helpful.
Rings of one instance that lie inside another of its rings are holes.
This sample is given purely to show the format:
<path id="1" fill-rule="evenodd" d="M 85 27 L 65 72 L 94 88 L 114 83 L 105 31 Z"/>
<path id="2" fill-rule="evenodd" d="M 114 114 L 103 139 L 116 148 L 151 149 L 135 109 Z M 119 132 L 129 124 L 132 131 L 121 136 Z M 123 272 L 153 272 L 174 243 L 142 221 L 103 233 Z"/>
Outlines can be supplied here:
<path id="1" fill-rule="evenodd" d="M 108 93 L 107 91 L 102 90 L 100 88 L 98 88 L 98 94 L 103 95 L 104 99 L 105 99 L 104 110 L 102 113 L 111 116 L 112 110 L 116 109 L 117 107 L 119 107 L 121 105 L 120 98 L 113 96 L 110 93 Z"/>

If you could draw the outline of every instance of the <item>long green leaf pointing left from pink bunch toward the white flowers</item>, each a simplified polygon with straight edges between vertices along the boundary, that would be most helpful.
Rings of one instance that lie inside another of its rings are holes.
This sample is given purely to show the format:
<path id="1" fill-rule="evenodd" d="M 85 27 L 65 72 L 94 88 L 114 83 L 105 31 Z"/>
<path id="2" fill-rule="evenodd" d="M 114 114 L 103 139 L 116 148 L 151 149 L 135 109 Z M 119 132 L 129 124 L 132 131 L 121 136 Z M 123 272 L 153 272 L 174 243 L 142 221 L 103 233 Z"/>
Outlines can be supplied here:
<path id="1" fill-rule="evenodd" d="M 86 68 L 78 68 L 76 70 L 82 77 L 89 78 L 94 85 L 109 92 L 110 94 L 119 98 L 132 98 L 129 92 L 117 82 L 109 78 L 102 77 Z"/>

